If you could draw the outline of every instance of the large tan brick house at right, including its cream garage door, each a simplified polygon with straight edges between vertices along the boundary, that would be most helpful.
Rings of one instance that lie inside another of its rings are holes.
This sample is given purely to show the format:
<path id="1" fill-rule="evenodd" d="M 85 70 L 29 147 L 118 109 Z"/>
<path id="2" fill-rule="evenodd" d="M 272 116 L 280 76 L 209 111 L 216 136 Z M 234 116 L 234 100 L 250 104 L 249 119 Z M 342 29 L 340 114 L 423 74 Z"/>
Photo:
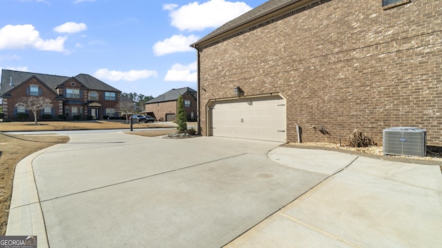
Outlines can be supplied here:
<path id="1" fill-rule="evenodd" d="M 442 146 L 442 1 L 271 0 L 191 46 L 206 136 L 343 141 L 421 127 Z M 236 89 L 236 90 L 235 90 Z"/>

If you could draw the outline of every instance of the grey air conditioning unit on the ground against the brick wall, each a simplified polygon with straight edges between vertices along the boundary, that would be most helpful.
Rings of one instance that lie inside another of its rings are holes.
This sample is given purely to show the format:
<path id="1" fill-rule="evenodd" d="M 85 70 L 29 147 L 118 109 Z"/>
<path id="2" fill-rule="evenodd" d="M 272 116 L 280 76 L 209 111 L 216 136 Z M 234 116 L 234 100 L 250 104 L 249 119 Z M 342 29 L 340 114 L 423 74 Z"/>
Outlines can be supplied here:
<path id="1" fill-rule="evenodd" d="M 427 130 L 390 127 L 383 130 L 384 155 L 427 156 Z"/>

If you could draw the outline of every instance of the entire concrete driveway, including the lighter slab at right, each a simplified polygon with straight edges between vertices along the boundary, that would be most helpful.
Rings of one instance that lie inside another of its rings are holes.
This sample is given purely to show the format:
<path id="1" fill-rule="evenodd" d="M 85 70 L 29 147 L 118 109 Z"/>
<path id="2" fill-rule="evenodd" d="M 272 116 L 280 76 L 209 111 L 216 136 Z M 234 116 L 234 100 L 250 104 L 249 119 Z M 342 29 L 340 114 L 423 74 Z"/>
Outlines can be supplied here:
<path id="1" fill-rule="evenodd" d="M 234 138 L 69 136 L 17 165 L 7 235 L 37 235 L 40 248 L 442 247 L 439 165 Z"/>

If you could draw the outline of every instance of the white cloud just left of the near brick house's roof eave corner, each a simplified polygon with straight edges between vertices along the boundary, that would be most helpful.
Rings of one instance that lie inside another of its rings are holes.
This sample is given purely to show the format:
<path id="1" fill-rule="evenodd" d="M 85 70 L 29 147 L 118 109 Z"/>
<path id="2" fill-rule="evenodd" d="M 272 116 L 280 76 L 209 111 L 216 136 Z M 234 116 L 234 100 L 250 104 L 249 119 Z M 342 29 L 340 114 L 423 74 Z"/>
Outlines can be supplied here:
<path id="1" fill-rule="evenodd" d="M 198 39 L 200 38 L 193 34 L 189 37 L 175 34 L 171 38 L 155 43 L 155 45 L 153 45 L 153 53 L 155 56 L 161 56 L 173 52 L 189 52 L 193 50 L 193 48 L 190 47 L 191 43 L 195 43 Z"/>

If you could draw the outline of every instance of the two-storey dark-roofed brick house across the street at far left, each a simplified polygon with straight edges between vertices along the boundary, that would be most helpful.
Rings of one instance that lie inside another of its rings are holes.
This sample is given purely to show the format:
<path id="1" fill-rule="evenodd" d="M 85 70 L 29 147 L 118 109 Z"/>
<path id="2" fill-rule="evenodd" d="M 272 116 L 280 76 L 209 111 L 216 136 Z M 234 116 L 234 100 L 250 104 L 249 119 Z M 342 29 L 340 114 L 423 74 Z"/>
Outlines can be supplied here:
<path id="1" fill-rule="evenodd" d="M 115 105 L 121 91 L 88 74 L 55 76 L 32 72 L 1 70 L 0 97 L 3 99 L 4 118 L 17 120 L 17 114 L 29 113 L 19 99 L 23 96 L 45 96 L 52 106 L 44 107 L 39 114 L 68 119 L 117 117 Z M 32 113 L 30 113 L 32 116 Z"/>

